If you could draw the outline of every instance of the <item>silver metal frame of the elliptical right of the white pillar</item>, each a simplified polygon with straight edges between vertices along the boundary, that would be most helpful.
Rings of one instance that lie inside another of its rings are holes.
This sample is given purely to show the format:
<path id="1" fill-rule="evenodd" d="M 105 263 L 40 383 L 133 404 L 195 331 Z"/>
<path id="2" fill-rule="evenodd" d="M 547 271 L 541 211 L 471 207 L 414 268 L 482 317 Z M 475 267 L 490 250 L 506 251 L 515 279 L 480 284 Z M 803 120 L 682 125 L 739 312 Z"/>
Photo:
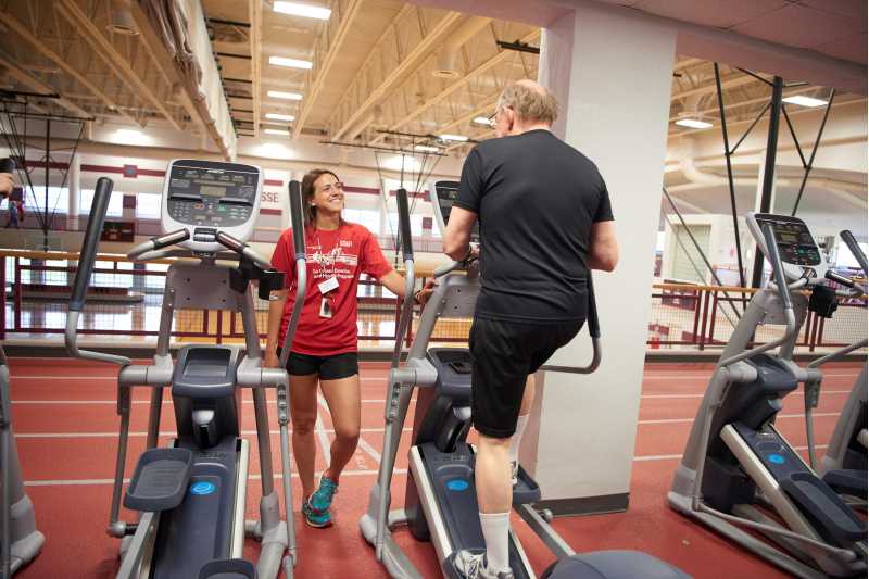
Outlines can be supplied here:
<path id="1" fill-rule="evenodd" d="M 756 379 L 756 370 L 744 360 L 779 348 L 778 358 L 793 373 L 794 378 L 803 383 L 820 379 L 820 372 L 813 367 L 802 368 L 793 363 L 792 354 L 797 340 L 799 326 L 805 319 L 808 300 L 797 288 L 807 284 L 820 282 L 823 277 L 811 280 L 802 278 L 804 272 L 796 273 L 793 267 L 782 266 L 778 246 L 770 227 L 760 228 L 750 213 L 747 222 L 750 230 L 769 257 L 776 284 L 755 293 L 740 319 L 719 358 L 716 370 L 701 402 L 694 424 L 691 428 L 684 454 L 673 477 L 672 487 L 667 494 L 670 506 L 694 517 L 742 546 L 753 551 L 770 563 L 786 571 L 809 579 L 826 577 L 826 574 L 844 576 L 866 572 L 866 542 L 855 542 L 848 549 L 830 545 L 815 531 L 811 524 L 803 517 L 790 498 L 781 491 L 764 463 L 757 458 L 752 449 L 732 426 L 725 426 L 720 438 L 739 461 L 748 477 L 761 490 L 763 499 L 776 511 L 785 525 L 751 505 L 734 507 L 735 514 L 721 513 L 708 506 L 702 495 L 703 471 L 706 463 L 706 449 L 711 436 L 711 423 L 721 407 L 730 388 L 752 382 Z M 790 279 L 799 277 L 790 282 Z M 801 279 L 802 278 L 802 279 Z M 785 331 L 782 338 L 768 344 L 746 350 L 753 341 L 756 328 L 761 324 L 783 324 Z M 773 432 L 774 427 L 771 427 Z M 788 443 L 786 440 L 782 440 Z M 765 534 L 780 549 L 770 545 L 746 532 L 751 529 Z"/>

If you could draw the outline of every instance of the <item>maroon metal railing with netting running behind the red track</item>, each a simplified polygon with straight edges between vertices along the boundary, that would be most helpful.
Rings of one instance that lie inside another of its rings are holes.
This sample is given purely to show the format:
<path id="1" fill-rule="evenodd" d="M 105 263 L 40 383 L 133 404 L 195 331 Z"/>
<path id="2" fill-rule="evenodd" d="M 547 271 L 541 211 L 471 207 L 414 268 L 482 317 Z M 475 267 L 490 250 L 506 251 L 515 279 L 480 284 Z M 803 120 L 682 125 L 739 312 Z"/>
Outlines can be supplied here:
<path id="1" fill-rule="evenodd" d="M 75 276 L 76 253 L 0 252 L 0 339 L 62 335 L 66 302 Z M 133 263 L 123 255 L 100 255 L 89 289 L 88 305 L 81 316 L 81 333 L 114 339 L 144 339 L 158 336 L 160 307 L 166 269 L 172 262 Z M 417 279 L 425 282 L 425 274 Z M 743 304 L 757 291 L 685 284 L 653 286 L 647 344 L 651 350 L 720 349 L 727 342 Z M 358 340 L 362 348 L 389 345 L 395 340 L 399 303 L 375 280 L 362 279 L 358 295 Z M 417 309 L 418 310 L 418 309 Z M 404 337 L 407 343 L 414 324 Z M 256 324 L 265 339 L 268 303 L 256 301 Z M 434 329 L 438 342 L 465 342 L 470 319 L 444 319 Z M 759 342 L 776 339 L 777 326 L 759 327 Z M 865 338 L 866 301 L 840 300 L 831 319 L 809 313 L 798 347 L 815 351 L 836 348 Z M 173 326 L 176 341 L 232 342 L 243 338 L 239 314 L 207 310 L 176 312 Z"/>

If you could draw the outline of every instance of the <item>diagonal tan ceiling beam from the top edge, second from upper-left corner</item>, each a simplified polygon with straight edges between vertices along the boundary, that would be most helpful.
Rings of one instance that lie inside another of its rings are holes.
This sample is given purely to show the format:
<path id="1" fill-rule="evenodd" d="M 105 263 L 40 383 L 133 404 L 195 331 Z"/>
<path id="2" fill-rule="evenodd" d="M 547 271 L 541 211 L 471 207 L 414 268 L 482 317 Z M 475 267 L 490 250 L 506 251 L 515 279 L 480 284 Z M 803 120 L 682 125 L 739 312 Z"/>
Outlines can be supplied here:
<path id="1" fill-rule="evenodd" d="M 115 73 L 118 79 L 154 109 L 160 111 L 175 130 L 182 130 L 175 115 L 166 106 L 166 99 L 159 97 L 148 83 L 142 80 L 129 62 L 115 49 L 112 41 L 91 22 L 75 0 L 58 0 L 54 9 L 78 32 L 102 62 Z M 138 41 L 138 39 L 136 39 Z"/>

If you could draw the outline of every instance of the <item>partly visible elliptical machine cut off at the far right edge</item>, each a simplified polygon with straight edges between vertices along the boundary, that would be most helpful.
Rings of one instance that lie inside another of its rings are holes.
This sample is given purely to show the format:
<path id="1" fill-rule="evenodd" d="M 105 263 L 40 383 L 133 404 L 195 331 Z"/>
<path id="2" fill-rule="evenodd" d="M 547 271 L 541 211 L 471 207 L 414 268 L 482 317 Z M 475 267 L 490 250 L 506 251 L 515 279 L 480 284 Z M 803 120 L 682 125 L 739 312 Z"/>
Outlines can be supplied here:
<path id="1" fill-rule="evenodd" d="M 854 234 L 841 231 L 842 240 L 851 250 L 852 254 L 860 264 L 864 276 L 868 275 L 866 269 L 866 254 L 860 249 Z M 858 288 L 866 297 L 866 288 Z M 811 362 L 810 368 L 819 368 L 828 362 L 839 360 L 842 356 L 866 348 L 867 339 L 864 338 L 853 344 L 837 350 L 831 354 Z M 827 446 L 827 453 L 818 464 L 815 448 L 815 427 L 813 421 L 813 411 L 818 407 L 821 393 L 820 380 L 810 381 L 805 386 L 805 408 L 806 408 L 806 439 L 808 440 L 808 457 L 811 468 L 823 477 L 824 482 L 833 488 L 839 494 L 843 495 L 848 504 L 866 511 L 867 500 L 867 365 L 864 364 L 862 370 L 854 381 L 842 414 L 833 429 L 833 436 Z"/>

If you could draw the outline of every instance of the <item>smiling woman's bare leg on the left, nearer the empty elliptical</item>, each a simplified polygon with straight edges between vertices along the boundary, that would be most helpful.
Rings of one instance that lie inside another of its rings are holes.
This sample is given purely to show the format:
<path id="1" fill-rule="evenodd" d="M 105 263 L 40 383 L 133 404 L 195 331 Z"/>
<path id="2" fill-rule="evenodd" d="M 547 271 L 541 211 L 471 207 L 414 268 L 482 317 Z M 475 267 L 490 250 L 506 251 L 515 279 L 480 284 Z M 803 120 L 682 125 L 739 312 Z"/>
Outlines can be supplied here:
<path id="1" fill-rule="evenodd" d="M 314 426 L 317 423 L 317 375 L 290 375 L 290 426 L 295 468 L 302 480 L 302 500 L 314 492 L 314 464 L 317 444 Z"/>

